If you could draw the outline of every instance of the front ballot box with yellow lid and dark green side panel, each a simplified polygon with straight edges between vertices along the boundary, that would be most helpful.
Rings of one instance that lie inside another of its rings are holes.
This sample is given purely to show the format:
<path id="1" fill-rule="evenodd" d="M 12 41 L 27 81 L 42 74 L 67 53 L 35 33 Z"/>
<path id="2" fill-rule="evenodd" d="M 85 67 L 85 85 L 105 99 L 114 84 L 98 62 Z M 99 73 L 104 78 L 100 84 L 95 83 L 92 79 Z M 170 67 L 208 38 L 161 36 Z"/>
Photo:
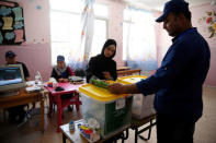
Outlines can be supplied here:
<path id="1" fill-rule="evenodd" d="M 102 138 L 109 138 L 130 126 L 133 97 L 111 94 L 93 84 L 79 87 L 82 116 L 86 121 L 96 120 Z"/>

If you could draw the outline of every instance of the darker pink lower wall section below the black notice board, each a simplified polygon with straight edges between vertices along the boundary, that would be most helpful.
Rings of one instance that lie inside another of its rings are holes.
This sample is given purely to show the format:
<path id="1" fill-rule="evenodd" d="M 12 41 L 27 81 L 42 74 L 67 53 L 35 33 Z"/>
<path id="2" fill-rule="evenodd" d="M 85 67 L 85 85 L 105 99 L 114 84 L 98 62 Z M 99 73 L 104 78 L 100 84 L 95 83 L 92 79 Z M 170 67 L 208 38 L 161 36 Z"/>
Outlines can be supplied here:
<path id="1" fill-rule="evenodd" d="M 39 71 L 46 81 L 49 79 L 52 72 L 49 47 L 49 44 L 0 47 L 0 64 L 5 62 L 5 51 L 13 50 L 16 53 L 16 60 L 26 64 L 32 80 L 34 80 L 36 71 Z"/>

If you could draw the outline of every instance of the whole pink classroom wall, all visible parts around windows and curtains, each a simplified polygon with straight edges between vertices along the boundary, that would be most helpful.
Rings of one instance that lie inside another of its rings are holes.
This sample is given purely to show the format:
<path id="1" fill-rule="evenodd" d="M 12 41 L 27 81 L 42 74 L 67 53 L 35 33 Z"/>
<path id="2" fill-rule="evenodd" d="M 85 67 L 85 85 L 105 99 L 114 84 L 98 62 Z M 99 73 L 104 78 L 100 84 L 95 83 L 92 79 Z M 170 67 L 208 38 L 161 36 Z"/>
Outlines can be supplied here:
<path id="1" fill-rule="evenodd" d="M 49 29 L 49 2 L 48 0 L 33 1 L 33 0 L 13 0 L 20 3 L 24 11 L 25 36 L 26 41 L 21 46 L 0 46 L 0 64 L 4 63 L 4 53 L 7 50 L 13 50 L 18 55 L 18 61 L 24 62 L 31 73 L 31 80 L 34 80 L 36 71 L 42 73 L 44 80 L 48 80 L 52 72 L 50 62 L 50 29 Z M 95 2 L 105 3 L 110 7 L 109 13 L 109 38 L 114 38 L 117 41 L 117 52 L 115 60 L 117 65 L 124 65 L 122 60 L 123 48 L 123 9 L 125 3 L 120 0 L 95 0 Z M 206 84 L 216 86 L 216 41 L 215 38 L 207 38 L 206 27 L 197 22 L 197 20 L 205 15 L 207 10 L 215 9 L 209 3 L 191 8 L 192 23 L 198 28 L 198 32 L 204 35 L 209 44 L 212 51 L 211 69 L 206 79 Z M 156 17 L 160 12 L 155 12 Z M 171 45 L 171 37 L 162 28 L 162 23 L 156 23 L 156 44 L 157 58 L 160 65 L 161 60 Z"/>

